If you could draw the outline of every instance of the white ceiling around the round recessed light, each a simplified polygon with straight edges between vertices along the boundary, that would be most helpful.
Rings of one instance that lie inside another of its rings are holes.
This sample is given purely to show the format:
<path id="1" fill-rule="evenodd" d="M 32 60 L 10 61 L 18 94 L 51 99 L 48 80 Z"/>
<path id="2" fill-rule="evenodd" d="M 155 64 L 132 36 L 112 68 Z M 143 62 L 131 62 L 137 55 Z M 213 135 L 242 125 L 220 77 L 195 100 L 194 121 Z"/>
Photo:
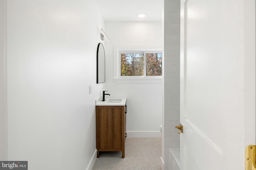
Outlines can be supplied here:
<path id="1" fill-rule="evenodd" d="M 106 22 L 161 22 L 162 0 L 96 0 Z M 138 18 L 138 14 L 146 14 Z"/>

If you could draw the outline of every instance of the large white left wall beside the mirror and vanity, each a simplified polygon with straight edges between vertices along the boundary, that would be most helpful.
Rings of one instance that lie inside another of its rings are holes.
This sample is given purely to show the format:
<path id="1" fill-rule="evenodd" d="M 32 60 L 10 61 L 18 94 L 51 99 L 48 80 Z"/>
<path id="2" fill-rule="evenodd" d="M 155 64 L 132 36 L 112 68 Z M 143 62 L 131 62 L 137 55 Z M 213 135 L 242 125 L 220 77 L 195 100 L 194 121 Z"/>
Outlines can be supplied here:
<path id="1" fill-rule="evenodd" d="M 104 21 L 95 0 L 8 0 L 7 25 L 8 160 L 86 169 L 104 87 L 96 84 Z"/>

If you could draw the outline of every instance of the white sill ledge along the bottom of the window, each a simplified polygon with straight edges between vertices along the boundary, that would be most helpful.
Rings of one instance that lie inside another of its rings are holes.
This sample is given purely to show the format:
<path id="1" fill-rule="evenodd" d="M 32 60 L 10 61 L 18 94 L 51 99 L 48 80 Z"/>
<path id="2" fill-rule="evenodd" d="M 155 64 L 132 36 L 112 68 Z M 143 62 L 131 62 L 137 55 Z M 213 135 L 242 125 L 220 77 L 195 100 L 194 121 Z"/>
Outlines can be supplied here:
<path id="1" fill-rule="evenodd" d="M 114 78 L 115 83 L 162 83 L 162 78 Z"/>

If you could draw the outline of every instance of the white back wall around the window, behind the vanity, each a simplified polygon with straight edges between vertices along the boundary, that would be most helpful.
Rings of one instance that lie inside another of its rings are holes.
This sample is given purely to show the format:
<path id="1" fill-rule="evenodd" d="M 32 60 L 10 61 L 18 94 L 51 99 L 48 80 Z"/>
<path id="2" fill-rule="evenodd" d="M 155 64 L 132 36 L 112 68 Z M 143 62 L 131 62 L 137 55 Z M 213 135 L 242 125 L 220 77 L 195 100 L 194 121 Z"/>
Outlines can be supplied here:
<path id="1" fill-rule="evenodd" d="M 126 97 L 128 131 L 159 131 L 162 124 L 162 84 L 115 83 L 113 45 L 163 46 L 161 22 L 106 22 L 106 85 L 110 97 Z M 116 52 L 116 51 L 115 51 Z M 160 133 L 159 133 L 160 135 Z"/>

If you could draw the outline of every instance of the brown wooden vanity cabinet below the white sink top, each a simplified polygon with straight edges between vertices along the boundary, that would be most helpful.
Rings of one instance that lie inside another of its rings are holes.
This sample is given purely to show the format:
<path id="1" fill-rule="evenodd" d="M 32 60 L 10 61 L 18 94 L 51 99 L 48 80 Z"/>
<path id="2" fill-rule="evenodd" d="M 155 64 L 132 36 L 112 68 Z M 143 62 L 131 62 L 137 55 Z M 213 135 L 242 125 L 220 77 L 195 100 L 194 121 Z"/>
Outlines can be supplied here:
<path id="1" fill-rule="evenodd" d="M 96 106 L 96 149 L 122 151 L 126 138 L 126 106 Z"/>

